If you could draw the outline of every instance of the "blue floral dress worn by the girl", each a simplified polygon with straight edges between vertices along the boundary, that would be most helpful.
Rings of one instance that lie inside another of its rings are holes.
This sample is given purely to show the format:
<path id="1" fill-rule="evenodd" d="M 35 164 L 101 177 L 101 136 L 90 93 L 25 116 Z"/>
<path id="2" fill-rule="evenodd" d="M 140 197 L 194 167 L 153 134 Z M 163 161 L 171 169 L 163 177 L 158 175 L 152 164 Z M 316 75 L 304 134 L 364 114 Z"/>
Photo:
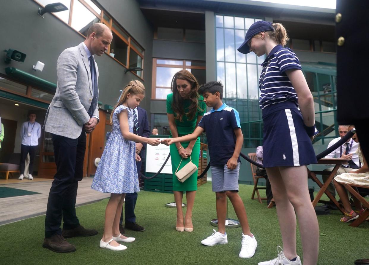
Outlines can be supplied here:
<path id="1" fill-rule="evenodd" d="M 133 132 L 132 112 L 118 106 L 113 113 L 113 130 L 107 134 L 106 146 L 92 181 L 93 190 L 106 193 L 133 193 L 139 191 L 135 162 L 136 143 L 123 138 L 117 114 L 128 111 L 128 125 Z"/>

